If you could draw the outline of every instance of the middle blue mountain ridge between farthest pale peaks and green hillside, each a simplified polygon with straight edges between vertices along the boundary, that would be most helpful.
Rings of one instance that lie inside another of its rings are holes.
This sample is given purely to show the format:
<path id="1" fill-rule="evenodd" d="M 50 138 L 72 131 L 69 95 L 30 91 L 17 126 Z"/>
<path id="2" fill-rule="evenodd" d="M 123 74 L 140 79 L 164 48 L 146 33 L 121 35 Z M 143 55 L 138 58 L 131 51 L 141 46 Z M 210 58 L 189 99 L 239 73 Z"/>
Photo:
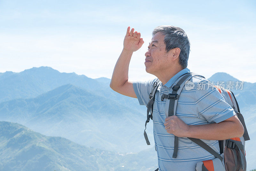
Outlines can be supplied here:
<path id="1" fill-rule="evenodd" d="M 105 150 L 135 152 L 147 147 L 141 139 L 144 115 L 112 98 L 71 84 L 36 98 L 2 102 L 0 120 L 18 122 L 44 135 L 62 136 Z M 141 134 L 132 130 L 140 130 Z"/>

